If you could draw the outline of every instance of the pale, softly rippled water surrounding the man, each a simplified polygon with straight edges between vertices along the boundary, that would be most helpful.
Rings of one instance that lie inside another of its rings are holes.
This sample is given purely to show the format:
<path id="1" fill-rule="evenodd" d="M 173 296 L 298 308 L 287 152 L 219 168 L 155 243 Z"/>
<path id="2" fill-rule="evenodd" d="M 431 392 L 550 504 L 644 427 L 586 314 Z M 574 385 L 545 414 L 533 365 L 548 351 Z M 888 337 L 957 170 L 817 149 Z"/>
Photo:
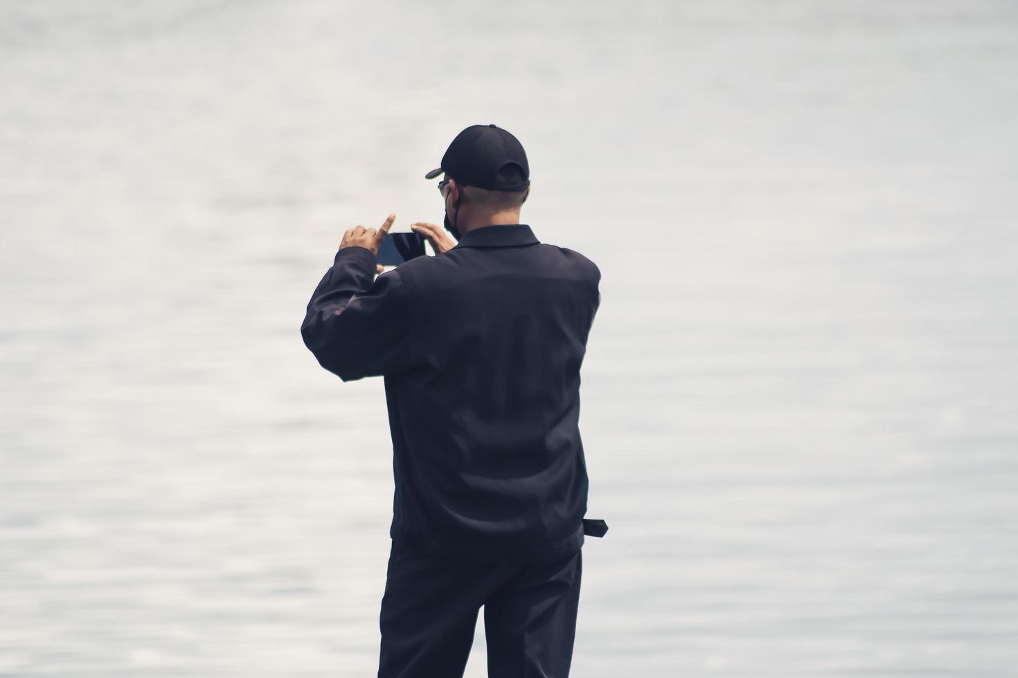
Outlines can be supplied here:
<path id="1" fill-rule="evenodd" d="M 1013 676 L 1016 74 L 1008 0 L 0 0 L 0 676 L 376 675 L 299 326 L 475 123 L 603 272 L 572 675 Z"/>

